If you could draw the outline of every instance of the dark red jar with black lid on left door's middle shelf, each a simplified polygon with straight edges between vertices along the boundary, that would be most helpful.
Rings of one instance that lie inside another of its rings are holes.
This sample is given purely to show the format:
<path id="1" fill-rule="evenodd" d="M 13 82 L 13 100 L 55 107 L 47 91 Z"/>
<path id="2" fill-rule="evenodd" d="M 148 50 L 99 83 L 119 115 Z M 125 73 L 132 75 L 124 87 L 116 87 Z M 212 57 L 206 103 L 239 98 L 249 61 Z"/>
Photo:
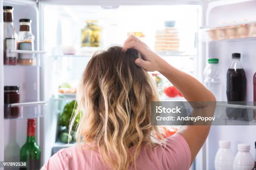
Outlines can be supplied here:
<path id="1" fill-rule="evenodd" d="M 20 87 L 19 86 L 5 86 L 4 87 L 4 117 L 17 118 L 20 115 L 18 106 L 10 107 L 10 104 L 20 102 Z"/>

